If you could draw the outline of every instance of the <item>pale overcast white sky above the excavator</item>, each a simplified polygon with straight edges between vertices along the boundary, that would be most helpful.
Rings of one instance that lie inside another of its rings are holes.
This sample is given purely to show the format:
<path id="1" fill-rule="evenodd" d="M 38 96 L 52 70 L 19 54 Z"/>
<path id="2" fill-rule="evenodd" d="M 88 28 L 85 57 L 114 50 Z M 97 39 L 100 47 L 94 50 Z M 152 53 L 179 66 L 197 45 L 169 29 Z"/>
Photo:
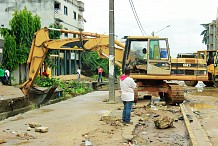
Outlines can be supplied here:
<path id="1" fill-rule="evenodd" d="M 85 11 L 85 31 L 108 34 L 109 0 L 82 0 Z M 171 56 L 206 49 L 202 44 L 200 24 L 217 17 L 218 0 L 132 0 L 139 20 L 147 35 L 154 31 L 159 37 L 169 38 Z M 142 35 L 129 0 L 114 0 L 115 34 L 120 39 L 127 35 Z"/>

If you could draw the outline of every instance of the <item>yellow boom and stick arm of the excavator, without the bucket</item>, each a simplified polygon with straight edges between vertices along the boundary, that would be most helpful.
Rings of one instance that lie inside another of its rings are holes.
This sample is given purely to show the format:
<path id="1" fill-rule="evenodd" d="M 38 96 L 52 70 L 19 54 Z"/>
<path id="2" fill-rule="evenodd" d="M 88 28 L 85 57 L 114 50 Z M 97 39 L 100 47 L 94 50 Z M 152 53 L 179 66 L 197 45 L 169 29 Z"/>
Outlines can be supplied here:
<path id="1" fill-rule="evenodd" d="M 50 29 L 50 28 L 49 28 Z M 40 68 L 43 65 L 44 59 L 48 50 L 90 50 L 96 51 L 101 58 L 109 58 L 109 37 L 107 35 L 99 35 L 95 33 L 84 33 L 79 31 L 57 30 L 62 33 L 77 34 L 77 38 L 55 39 L 49 38 L 48 28 L 42 28 L 37 31 L 32 40 L 32 45 L 27 60 L 28 80 L 24 82 L 20 89 L 26 96 L 30 96 L 30 91 L 33 91 L 33 82 L 37 77 Z M 115 64 L 121 68 L 124 44 L 115 40 Z M 37 101 L 38 102 L 38 101 Z M 42 102 L 42 101 L 40 101 Z M 37 103 L 40 104 L 40 103 Z"/>

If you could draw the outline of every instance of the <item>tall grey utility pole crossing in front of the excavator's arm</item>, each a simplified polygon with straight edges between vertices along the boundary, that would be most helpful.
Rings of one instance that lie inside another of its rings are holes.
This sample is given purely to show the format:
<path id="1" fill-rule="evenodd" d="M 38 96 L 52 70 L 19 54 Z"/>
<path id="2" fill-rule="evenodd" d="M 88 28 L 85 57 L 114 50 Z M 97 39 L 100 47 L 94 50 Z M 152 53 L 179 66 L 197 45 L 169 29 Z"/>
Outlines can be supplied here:
<path id="1" fill-rule="evenodd" d="M 114 0 L 109 0 L 109 102 L 115 103 L 115 91 L 114 91 Z"/>

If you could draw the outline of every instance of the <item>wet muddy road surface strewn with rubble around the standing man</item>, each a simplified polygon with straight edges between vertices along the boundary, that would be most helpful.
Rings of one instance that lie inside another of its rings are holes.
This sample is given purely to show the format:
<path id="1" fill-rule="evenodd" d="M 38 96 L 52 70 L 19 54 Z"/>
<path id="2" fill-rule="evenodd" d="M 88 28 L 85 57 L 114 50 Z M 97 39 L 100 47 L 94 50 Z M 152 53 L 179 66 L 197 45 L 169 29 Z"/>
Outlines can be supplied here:
<path id="1" fill-rule="evenodd" d="M 210 143 L 218 145 L 218 89 L 202 84 L 184 88 L 185 104 L 190 106 Z M 120 92 L 116 91 L 116 104 L 105 102 L 107 99 L 108 91 L 95 91 L 0 121 L 0 142 L 4 140 L 2 145 L 6 146 L 191 145 L 180 106 L 156 102 L 158 97 L 140 99 L 133 108 L 133 124 L 123 125 Z M 174 119 L 173 126 L 156 128 L 154 121 L 164 116 Z M 48 132 L 35 132 L 29 128 L 32 122 L 47 127 Z"/>

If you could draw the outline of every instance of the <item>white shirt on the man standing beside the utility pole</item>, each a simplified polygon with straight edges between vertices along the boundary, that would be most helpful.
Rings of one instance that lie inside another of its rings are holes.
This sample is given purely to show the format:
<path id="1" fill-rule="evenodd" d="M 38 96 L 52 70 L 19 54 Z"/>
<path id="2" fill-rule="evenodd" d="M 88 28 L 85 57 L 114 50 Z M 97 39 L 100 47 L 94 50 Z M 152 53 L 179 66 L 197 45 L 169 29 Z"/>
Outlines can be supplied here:
<path id="1" fill-rule="evenodd" d="M 130 77 L 120 80 L 121 98 L 123 101 L 134 101 L 134 88 L 136 83 Z"/>

